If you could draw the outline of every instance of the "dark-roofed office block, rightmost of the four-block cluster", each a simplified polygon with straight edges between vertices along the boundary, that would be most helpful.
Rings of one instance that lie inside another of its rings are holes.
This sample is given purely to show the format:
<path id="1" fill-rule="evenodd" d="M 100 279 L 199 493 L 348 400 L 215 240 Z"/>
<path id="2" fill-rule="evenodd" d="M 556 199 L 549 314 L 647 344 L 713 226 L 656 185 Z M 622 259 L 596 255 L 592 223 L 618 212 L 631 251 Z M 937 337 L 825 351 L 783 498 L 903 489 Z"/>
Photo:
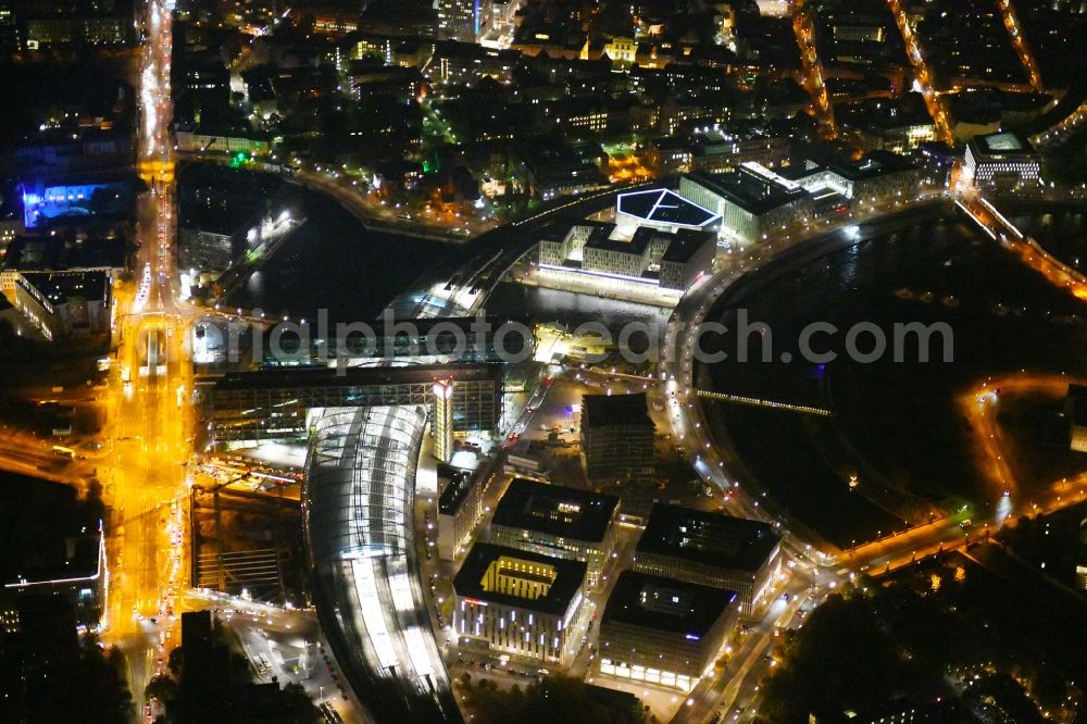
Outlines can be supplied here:
<path id="1" fill-rule="evenodd" d="M 769 603 L 780 538 L 766 523 L 657 503 L 635 549 L 634 570 L 739 594 L 740 614 Z"/>

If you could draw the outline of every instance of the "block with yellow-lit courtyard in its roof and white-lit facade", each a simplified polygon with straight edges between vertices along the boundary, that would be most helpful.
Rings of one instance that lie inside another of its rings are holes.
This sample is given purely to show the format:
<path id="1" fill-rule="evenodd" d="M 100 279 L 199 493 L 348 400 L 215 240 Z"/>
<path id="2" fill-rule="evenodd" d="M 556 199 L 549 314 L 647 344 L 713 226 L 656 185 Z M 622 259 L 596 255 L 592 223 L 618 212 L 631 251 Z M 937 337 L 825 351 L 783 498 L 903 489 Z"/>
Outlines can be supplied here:
<path id="1" fill-rule="evenodd" d="M 462 648 L 564 665 L 576 654 L 585 563 L 476 544 L 453 578 Z"/>

